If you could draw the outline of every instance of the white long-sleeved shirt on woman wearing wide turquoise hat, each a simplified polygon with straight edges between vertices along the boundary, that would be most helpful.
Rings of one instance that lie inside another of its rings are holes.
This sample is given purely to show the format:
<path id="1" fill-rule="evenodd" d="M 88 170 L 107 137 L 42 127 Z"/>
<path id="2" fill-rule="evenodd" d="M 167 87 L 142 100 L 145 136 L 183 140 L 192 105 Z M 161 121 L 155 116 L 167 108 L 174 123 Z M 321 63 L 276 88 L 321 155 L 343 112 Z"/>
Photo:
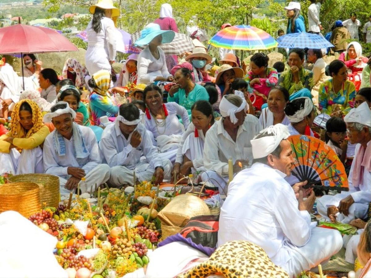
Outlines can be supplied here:
<path id="1" fill-rule="evenodd" d="M 159 59 L 153 57 L 148 46 L 139 54 L 137 84 L 150 85 L 155 82 L 157 76 L 167 78 L 171 75 L 167 70 L 164 50 L 159 47 L 157 49 L 160 53 Z"/>

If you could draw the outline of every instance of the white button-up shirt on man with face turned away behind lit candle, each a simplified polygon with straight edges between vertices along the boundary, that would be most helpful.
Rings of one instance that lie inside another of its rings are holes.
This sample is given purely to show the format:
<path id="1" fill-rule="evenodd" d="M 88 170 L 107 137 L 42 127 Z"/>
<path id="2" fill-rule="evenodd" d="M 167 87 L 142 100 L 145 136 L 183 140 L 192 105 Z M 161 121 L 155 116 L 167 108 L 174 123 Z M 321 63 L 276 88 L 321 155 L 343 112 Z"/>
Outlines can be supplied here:
<path id="1" fill-rule="evenodd" d="M 204 167 L 206 170 L 217 172 L 220 176 L 228 175 L 228 159 L 232 158 L 233 164 L 237 159 L 253 160 L 250 140 L 259 132 L 258 119 L 250 114 L 239 126 L 236 142 L 223 127 L 223 118 L 217 120 L 206 132 L 204 145 Z"/>

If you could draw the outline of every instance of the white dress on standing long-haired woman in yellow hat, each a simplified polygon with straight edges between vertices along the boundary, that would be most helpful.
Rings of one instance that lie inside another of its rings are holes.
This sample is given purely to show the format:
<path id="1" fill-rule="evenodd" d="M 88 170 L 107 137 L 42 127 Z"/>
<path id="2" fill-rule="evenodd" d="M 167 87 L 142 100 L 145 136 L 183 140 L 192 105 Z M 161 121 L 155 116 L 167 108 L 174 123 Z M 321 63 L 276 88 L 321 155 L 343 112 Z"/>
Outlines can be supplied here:
<path id="1" fill-rule="evenodd" d="M 92 27 L 92 21 L 86 27 L 88 36 L 88 49 L 85 53 L 85 66 L 92 76 L 98 70 L 111 72 L 111 64 L 116 57 L 115 24 L 112 19 L 104 17 L 101 19 L 101 30 L 96 33 Z"/>

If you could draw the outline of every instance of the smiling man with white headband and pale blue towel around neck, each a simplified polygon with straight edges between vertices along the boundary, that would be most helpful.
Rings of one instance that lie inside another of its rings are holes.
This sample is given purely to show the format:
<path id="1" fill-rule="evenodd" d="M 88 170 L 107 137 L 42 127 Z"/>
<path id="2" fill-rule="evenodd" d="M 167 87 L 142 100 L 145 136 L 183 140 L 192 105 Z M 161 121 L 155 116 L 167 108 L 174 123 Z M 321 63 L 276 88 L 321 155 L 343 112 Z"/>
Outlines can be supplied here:
<path id="1" fill-rule="evenodd" d="M 111 173 L 109 166 L 102 164 L 93 130 L 74 123 L 75 116 L 75 111 L 63 101 L 44 116 L 44 122 L 55 126 L 44 142 L 44 169 L 46 174 L 59 176 L 62 195 L 74 191 L 83 177 L 81 192 L 91 193 L 91 185 L 107 182 Z"/>

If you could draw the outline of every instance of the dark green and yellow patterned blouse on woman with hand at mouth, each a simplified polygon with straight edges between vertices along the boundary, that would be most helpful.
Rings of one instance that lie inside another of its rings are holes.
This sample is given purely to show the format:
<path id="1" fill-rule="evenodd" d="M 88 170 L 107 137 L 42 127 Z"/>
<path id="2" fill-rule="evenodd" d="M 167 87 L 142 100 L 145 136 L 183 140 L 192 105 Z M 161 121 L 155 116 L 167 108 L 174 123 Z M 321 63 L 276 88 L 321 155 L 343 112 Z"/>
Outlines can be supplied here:
<path id="1" fill-rule="evenodd" d="M 300 81 L 298 84 L 296 84 L 295 82 L 292 81 L 291 70 L 288 70 L 282 73 L 282 75 L 279 77 L 278 85 L 281 85 L 282 87 L 288 89 L 290 95 L 304 88 L 311 91 L 313 87 L 313 72 L 301 67 L 299 71 L 299 77 Z"/>

